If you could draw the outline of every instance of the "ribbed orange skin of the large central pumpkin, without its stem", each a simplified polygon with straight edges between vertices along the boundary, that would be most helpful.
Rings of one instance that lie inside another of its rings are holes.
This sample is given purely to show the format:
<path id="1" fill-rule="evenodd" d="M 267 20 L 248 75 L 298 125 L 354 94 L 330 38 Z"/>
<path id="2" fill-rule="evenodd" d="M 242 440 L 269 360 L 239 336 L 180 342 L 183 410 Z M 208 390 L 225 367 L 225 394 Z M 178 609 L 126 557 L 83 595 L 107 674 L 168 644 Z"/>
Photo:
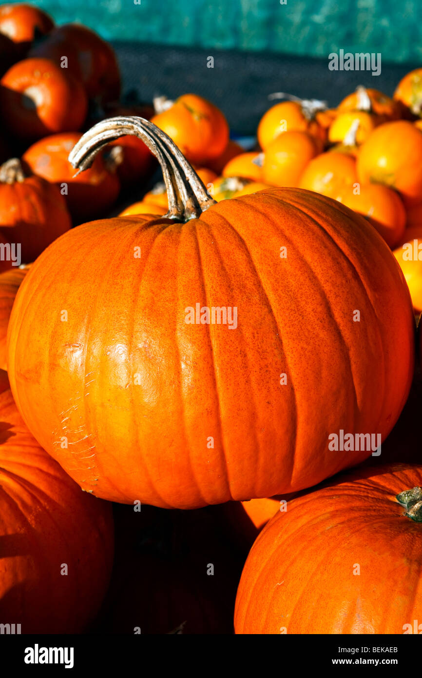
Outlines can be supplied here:
<path id="1" fill-rule="evenodd" d="M 237 329 L 186 324 L 196 303 L 236 306 Z M 293 492 L 370 456 L 329 452 L 329 434 L 385 438 L 414 334 L 375 229 L 274 188 L 186 224 L 125 217 L 64 234 L 20 287 L 8 369 L 30 431 L 85 490 L 188 509 Z"/>

